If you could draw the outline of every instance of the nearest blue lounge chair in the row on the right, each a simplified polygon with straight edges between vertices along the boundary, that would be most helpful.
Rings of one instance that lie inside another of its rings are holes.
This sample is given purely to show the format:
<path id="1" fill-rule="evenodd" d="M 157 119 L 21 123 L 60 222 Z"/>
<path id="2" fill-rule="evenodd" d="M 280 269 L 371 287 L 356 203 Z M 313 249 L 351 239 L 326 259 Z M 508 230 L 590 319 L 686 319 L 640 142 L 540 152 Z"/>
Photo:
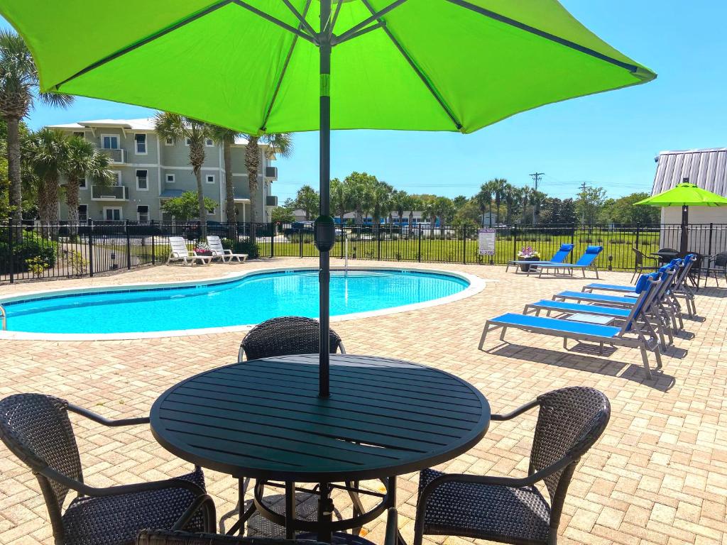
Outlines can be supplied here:
<path id="1" fill-rule="evenodd" d="M 620 327 L 600 326 L 593 323 L 509 312 L 486 321 L 480 338 L 479 349 L 482 350 L 489 331 L 496 328 L 502 328 L 500 334 L 500 340 L 502 341 L 505 340 L 507 328 L 516 328 L 530 333 L 562 337 L 563 347 L 566 349 L 568 348 L 568 339 L 579 342 L 598 342 L 601 347 L 603 347 L 603 344 L 611 344 L 613 346 L 638 348 L 643 360 L 644 374 L 647 379 L 651 379 L 651 368 L 649 367 L 646 351 L 651 350 L 654 352 L 656 368 L 661 368 L 662 355 L 659 352 L 659 339 L 653 333 L 644 331 L 637 318 L 640 316 L 643 307 L 648 304 L 649 297 L 654 295 L 652 290 L 656 289 L 659 283 L 659 275 L 656 273 L 641 275 L 637 283 L 639 293 L 637 304 L 630 309 L 628 318 L 624 320 Z"/>

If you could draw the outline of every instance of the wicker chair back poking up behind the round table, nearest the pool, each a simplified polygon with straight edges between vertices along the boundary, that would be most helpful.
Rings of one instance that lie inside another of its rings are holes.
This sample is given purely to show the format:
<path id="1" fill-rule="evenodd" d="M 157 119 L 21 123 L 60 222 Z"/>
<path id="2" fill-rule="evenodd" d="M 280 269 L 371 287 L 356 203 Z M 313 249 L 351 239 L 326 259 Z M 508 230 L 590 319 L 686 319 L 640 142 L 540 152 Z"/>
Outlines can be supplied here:
<path id="1" fill-rule="evenodd" d="M 238 361 L 242 361 L 243 356 L 248 360 L 257 360 L 273 356 L 316 354 L 320 330 L 318 320 L 313 318 L 282 316 L 265 320 L 254 326 L 242 339 Z M 340 336 L 332 329 L 329 331 L 331 353 L 340 350 L 345 354 Z"/>

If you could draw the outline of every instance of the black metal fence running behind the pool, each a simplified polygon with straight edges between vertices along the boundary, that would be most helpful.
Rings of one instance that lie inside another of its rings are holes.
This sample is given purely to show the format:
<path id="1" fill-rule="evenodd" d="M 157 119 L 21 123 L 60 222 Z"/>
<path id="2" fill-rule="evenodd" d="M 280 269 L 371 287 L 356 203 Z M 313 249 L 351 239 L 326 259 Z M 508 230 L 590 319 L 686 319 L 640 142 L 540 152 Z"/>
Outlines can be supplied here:
<path id="1" fill-rule="evenodd" d="M 317 257 L 313 231 L 300 224 L 207 225 L 225 246 L 259 257 Z M 678 249 L 680 225 L 548 225 L 494 227 L 494 255 L 480 255 L 478 228 L 462 226 L 356 225 L 337 227 L 332 257 L 400 262 L 504 265 L 531 246 L 549 259 L 562 243 L 574 244 L 571 262 L 586 246 L 603 246 L 602 270 L 632 270 L 635 252 Z M 200 247 L 199 222 L 88 222 L 80 225 L 0 225 L 0 281 L 94 276 L 159 265 L 169 256 L 169 237 Z M 254 241 L 254 246 L 251 241 Z M 727 225 L 688 227 L 690 251 L 727 251 Z M 254 250 L 251 251 L 251 249 Z"/>

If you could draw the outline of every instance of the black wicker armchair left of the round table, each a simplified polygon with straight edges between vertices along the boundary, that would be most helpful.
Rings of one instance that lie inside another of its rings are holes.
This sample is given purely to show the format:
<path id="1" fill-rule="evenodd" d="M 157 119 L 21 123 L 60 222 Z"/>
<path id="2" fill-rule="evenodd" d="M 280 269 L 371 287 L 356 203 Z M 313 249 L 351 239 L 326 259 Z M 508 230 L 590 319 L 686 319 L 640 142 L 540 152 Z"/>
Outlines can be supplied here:
<path id="1" fill-rule="evenodd" d="M 68 411 L 111 427 L 149 422 L 107 420 L 48 395 L 18 394 L 0 401 L 0 438 L 36 475 L 56 545 L 132 545 L 139 530 L 150 527 L 214 531 L 214 502 L 205 493 L 198 467 L 153 483 L 85 484 Z M 79 494 L 62 512 L 71 490 Z"/>

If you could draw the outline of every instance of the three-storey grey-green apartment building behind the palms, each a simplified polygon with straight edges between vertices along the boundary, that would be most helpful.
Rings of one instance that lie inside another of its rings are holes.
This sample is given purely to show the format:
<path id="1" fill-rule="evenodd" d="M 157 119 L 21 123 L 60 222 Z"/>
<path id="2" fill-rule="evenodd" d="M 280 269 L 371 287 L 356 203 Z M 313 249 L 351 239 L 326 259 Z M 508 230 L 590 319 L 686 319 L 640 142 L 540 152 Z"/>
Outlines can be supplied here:
<path id="1" fill-rule="evenodd" d="M 172 217 L 161 211 L 161 204 L 185 191 L 197 190 L 196 178 L 189 162 L 189 143 L 160 139 L 154 131 L 152 118 L 79 121 L 51 125 L 50 128 L 84 137 L 111 158 L 111 169 L 116 174 L 113 185 L 104 187 L 87 180 L 81 187 L 81 220 L 172 221 Z M 246 140 L 239 138 L 232 148 L 238 221 L 249 221 L 251 206 L 255 206 L 258 221 L 268 222 L 270 211 L 277 205 L 272 185 L 278 179 L 278 170 L 270 165 L 274 156 L 269 157 L 268 148 L 260 145 L 257 202 L 251 203 L 244 161 L 246 144 Z M 227 221 L 225 162 L 222 146 L 212 139 L 207 140 L 205 146 L 202 185 L 204 195 L 218 203 L 214 210 L 208 211 L 206 219 Z M 68 219 L 65 203 L 61 203 L 60 218 Z"/>

